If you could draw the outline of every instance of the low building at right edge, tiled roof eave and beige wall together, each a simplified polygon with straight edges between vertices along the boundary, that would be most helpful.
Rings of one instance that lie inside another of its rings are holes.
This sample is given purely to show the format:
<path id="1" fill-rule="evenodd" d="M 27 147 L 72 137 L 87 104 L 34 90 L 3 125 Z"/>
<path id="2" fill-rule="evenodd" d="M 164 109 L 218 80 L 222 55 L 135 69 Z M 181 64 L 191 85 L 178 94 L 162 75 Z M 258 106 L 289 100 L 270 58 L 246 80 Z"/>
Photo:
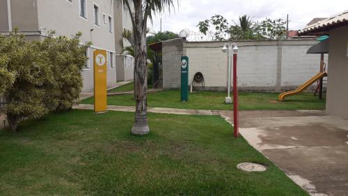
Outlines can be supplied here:
<path id="1" fill-rule="evenodd" d="M 330 36 L 326 112 L 348 119 L 348 10 L 310 24 L 300 34 Z"/>

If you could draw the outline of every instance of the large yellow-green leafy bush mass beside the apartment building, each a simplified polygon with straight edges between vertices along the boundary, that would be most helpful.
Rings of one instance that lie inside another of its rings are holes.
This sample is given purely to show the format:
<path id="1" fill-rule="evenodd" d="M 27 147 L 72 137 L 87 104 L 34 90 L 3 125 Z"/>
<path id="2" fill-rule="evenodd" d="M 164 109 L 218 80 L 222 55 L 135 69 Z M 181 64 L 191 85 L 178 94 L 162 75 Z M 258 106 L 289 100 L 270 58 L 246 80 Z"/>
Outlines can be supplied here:
<path id="1" fill-rule="evenodd" d="M 17 29 L 0 36 L 0 93 L 6 98 L 0 113 L 6 114 L 11 130 L 24 119 L 68 110 L 76 103 L 89 45 L 79 45 L 80 37 L 53 38 L 51 33 L 43 41 L 29 41 Z"/>

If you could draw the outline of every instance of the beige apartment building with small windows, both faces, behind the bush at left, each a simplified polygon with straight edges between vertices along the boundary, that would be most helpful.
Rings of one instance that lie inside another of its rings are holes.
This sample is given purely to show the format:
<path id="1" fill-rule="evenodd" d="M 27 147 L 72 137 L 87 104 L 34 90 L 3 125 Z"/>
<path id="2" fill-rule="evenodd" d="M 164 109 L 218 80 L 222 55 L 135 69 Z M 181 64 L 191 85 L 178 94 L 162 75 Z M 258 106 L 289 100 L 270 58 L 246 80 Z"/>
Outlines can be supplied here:
<path id="1" fill-rule="evenodd" d="M 83 91 L 93 89 L 95 49 L 107 52 L 107 84 L 117 82 L 116 64 L 124 64 L 116 61 L 122 52 L 118 40 L 122 40 L 122 29 L 132 25 L 124 18 L 127 12 L 122 5 L 110 0 L 0 0 L 1 33 L 19 28 L 29 39 L 42 39 L 52 30 L 57 36 L 68 37 L 81 32 L 81 43 L 93 43 L 86 51 L 89 59 L 82 73 Z"/>

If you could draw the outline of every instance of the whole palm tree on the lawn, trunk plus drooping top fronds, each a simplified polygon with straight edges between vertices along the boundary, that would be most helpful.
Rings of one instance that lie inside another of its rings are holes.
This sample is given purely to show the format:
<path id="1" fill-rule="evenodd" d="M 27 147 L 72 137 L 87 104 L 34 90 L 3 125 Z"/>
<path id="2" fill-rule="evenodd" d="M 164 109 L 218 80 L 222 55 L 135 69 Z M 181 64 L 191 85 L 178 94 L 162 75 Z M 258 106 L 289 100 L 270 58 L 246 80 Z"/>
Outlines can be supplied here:
<path id="1" fill-rule="evenodd" d="M 148 20 L 152 15 L 161 13 L 165 8 L 173 6 L 173 0 L 114 0 L 124 5 L 132 20 L 134 36 L 134 98 L 136 100 L 135 120 L 132 134 L 145 135 L 150 133 L 148 127 L 148 68 L 146 66 L 146 31 Z M 178 0 L 177 0 L 178 1 Z"/>

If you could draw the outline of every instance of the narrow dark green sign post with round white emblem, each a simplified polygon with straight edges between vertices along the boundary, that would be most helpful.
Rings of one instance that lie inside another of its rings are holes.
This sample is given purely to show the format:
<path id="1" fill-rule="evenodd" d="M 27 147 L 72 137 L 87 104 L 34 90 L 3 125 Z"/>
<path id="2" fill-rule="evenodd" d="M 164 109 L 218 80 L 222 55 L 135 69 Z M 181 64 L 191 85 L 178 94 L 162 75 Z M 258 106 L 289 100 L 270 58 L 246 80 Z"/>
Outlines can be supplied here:
<path id="1" fill-rule="evenodd" d="M 189 100 L 189 57 L 181 56 L 181 101 Z"/>

